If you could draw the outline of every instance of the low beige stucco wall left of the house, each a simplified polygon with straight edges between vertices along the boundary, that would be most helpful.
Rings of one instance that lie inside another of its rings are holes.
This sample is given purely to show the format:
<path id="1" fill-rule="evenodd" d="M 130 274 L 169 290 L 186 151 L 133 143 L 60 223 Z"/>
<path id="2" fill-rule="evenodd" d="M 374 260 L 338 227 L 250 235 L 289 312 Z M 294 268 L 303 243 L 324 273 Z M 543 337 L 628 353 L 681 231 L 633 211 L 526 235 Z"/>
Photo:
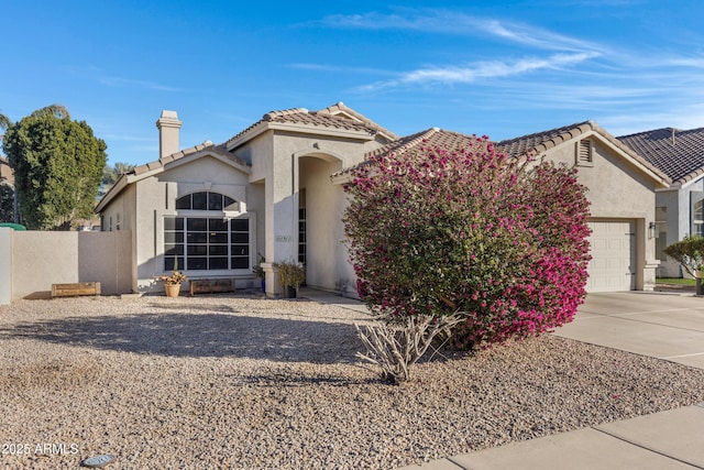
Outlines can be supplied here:
<path id="1" fill-rule="evenodd" d="M 132 292 L 131 232 L 12 233 L 12 298 L 46 296 L 52 284 L 100 282 L 102 294 Z"/>

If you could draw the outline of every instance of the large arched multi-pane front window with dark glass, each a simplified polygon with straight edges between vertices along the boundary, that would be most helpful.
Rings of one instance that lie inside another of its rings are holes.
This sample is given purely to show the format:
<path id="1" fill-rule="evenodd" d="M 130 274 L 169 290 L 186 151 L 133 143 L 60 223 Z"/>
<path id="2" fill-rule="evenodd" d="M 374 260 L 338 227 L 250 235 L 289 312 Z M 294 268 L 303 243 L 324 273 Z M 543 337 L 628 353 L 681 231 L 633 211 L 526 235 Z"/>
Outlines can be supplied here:
<path id="1" fill-rule="evenodd" d="M 250 217 L 223 217 L 237 201 L 220 193 L 200 192 L 179 197 L 178 216 L 164 217 L 164 271 L 250 270 Z M 187 210 L 213 211 L 188 214 Z"/>

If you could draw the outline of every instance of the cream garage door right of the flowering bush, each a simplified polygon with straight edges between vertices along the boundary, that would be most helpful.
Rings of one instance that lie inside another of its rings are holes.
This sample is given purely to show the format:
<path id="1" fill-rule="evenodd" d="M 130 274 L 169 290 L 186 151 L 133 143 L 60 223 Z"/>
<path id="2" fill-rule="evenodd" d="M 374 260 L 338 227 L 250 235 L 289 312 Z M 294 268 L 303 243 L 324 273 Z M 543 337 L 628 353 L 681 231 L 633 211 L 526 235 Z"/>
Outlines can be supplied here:
<path id="1" fill-rule="evenodd" d="M 636 234 L 632 221 L 591 221 L 587 292 L 636 288 Z"/>

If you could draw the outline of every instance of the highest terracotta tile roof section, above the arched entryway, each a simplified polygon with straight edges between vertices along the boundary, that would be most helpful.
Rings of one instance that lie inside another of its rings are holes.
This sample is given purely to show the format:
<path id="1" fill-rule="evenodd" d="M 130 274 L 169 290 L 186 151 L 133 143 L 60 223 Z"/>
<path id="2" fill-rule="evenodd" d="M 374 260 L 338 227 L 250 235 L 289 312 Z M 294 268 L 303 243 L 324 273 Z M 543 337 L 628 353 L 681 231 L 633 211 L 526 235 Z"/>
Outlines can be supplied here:
<path id="1" fill-rule="evenodd" d="M 383 133 L 389 140 L 396 140 L 398 136 L 392 131 L 378 125 L 374 121 L 365 118 L 342 102 L 321 109 L 319 111 L 309 111 L 306 108 L 292 108 L 280 111 L 270 111 L 258 121 L 243 130 L 242 132 L 228 140 L 226 145 L 230 144 L 253 129 L 261 127 L 266 122 L 293 123 L 310 125 L 314 128 L 341 129 L 348 131 L 363 131 L 372 134 Z"/>

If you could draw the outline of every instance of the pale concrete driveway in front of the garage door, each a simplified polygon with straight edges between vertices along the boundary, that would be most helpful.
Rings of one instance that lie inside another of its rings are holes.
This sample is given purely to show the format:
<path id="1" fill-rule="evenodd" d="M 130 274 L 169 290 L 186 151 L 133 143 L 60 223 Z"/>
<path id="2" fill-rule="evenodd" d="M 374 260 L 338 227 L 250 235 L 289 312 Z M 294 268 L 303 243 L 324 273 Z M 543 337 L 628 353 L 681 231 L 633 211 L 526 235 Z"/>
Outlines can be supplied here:
<path id="1" fill-rule="evenodd" d="M 557 336 L 704 369 L 704 297 L 588 294 Z"/>

